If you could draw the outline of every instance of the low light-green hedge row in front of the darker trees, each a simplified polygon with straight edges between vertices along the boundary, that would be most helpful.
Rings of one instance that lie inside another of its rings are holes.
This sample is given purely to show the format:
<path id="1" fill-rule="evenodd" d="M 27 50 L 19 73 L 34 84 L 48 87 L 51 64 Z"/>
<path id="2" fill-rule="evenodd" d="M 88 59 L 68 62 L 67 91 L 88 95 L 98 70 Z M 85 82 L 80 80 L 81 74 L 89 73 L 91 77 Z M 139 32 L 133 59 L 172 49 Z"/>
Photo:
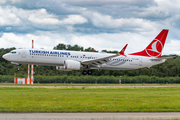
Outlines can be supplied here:
<path id="1" fill-rule="evenodd" d="M 14 83 L 14 76 L 0 75 L 1 83 Z M 34 83 L 88 83 L 119 84 L 119 77 L 114 76 L 34 76 Z M 121 76 L 121 84 L 179 84 L 180 77 L 156 76 Z"/>

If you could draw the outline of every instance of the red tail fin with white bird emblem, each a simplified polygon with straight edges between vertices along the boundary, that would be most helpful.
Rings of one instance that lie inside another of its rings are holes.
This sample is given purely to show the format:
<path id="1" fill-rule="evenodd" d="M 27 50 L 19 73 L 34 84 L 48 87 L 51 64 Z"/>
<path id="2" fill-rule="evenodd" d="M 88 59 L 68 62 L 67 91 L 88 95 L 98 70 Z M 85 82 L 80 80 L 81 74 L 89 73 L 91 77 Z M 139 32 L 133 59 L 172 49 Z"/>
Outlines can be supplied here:
<path id="1" fill-rule="evenodd" d="M 168 31 L 169 30 L 167 29 L 163 29 L 159 33 L 159 35 L 143 51 L 131 53 L 129 55 L 160 58 Z"/>

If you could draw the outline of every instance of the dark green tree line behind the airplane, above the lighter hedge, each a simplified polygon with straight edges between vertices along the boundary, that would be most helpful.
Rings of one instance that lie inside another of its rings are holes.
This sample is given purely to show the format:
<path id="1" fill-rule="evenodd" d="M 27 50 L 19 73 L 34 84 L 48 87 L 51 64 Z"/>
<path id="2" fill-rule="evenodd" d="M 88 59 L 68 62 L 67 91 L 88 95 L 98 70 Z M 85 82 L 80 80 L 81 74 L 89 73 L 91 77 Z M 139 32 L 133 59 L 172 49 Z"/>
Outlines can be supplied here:
<path id="1" fill-rule="evenodd" d="M 11 64 L 9 61 L 2 58 L 2 55 L 10 52 L 16 48 L 1 48 L 0 49 L 0 75 L 18 75 L 19 77 L 27 77 L 27 65 L 21 65 L 20 70 L 17 70 L 17 66 Z M 92 52 L 95 50 L 92 47 L 84 48 L 79 45 L 66 45 L 66 44 L 58 44 L 53 49 L 56 50 L 73 50 L 73 51 L 88 51 Z M 98 52 L 95 50 L 95 52 Z M 107 51 L 102 50 L 102 52 L 107 53 L 118 53 L 118 51 Z M 171 56 L 171 55 L 167 55 Z M 174 55 L 174 58 L 168 59 L 165 63 L 154 65 L 151 68 L 141 68 L 136 70 L 92 70 L 92 76 L 139 76 L 139 75 L 147 75 L 147 76 L 157 76 L 157 77 L 175 77 L 180 76 L 180 57 Z M 81 76 L 82 70 L 79 71 L 58 71 L 55 66 L 37 66 L 34 65 L 35 75 L 43 75 L 43 76 Z"/>

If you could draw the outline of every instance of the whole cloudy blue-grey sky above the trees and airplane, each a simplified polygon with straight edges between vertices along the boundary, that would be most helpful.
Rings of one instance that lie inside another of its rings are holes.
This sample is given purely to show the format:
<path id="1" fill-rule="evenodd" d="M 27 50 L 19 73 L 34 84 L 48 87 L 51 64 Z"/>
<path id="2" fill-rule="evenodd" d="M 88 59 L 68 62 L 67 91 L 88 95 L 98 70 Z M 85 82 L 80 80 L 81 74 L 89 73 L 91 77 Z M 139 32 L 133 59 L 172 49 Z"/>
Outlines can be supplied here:
<path id="1" fill-rule="evenodd" d="M 0 0 L 0 48 L 59 43 L 143 50 L 169 29 L 162 54 L 180 55 L 180 0 Z"/>

